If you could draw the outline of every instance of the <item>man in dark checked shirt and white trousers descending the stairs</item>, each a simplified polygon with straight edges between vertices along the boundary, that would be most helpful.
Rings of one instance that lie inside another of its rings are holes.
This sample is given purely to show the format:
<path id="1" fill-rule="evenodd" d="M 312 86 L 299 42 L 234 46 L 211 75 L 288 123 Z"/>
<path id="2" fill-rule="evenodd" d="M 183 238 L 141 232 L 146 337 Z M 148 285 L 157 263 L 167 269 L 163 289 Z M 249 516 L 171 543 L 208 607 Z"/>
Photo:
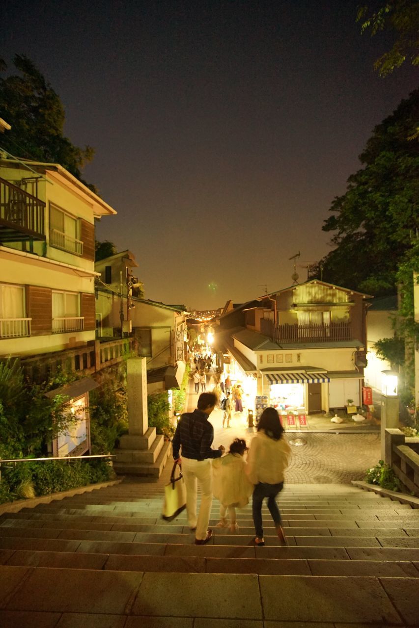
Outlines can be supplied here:
<path id="1" fill-rule="evenodd" d="M 173 458 L 181 464 L 186 487 L 186 512 L 189 528 L 196 530 L 195 544 L 208 543 L 213 531 L 208 529 L 213 501 L 213 476 L 211 458 L 220 458 L 223 445 L 211 449 L 214 430 L 208 418 L 215 408 L 214 393 L 201 393 L 198 408 L 182 414 L 173 437 Z M 182 447 L 182 458 L 179 450 Z M 201 490 L 201 506 L 196 516 L 197 482 Z"/>

